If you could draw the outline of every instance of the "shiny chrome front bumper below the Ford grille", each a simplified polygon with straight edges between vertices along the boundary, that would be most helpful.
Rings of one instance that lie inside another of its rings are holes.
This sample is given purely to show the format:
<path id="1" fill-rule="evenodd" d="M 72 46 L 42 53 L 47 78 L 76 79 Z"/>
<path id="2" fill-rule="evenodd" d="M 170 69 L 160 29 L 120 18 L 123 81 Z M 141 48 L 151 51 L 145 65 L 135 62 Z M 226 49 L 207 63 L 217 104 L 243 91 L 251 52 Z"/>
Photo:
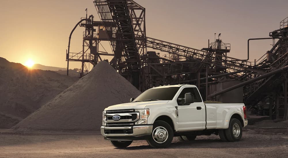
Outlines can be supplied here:
<path id="1" fill-rule="evenodd" d="M 128 130 L 133 129 L 132 134 L 105 134 L 105 130 Z M 147 136 L 152 133 L 153 125 L 145 125 L 145 126 L 128 126 L 128 127 L 106 127 L 101 126 L 101 134 L 105 137 L 121 137 L 121 136 L 133 136 L 133 137 L 140 137 L 140 136 Z"/>

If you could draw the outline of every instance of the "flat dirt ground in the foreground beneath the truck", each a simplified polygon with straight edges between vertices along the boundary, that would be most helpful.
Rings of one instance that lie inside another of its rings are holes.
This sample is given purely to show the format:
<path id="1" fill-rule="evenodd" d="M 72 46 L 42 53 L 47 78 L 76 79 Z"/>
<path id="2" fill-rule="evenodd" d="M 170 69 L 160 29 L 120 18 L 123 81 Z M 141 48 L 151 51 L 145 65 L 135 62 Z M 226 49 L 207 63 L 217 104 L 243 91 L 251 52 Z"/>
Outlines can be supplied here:
<path id="1" fill-rule="evenodd" d="M 221 142 L 219 136 L 197 136 L 166 149 L 134 141 L 116 149 L 98 133 L 1 132 L 0 157 L 286 157 L 288 129 L 245 129 L 239 142 Z"/>

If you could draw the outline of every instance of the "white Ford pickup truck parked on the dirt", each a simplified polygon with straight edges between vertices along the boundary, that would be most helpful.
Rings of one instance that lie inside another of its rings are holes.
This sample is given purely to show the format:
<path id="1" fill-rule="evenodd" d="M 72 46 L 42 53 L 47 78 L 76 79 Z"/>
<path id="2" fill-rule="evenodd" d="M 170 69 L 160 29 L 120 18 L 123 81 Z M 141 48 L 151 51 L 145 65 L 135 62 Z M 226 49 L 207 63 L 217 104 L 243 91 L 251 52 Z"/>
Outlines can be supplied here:
<path id="1" fill-rule="evenodd" d="M 130 103 L 107 107 L 101 134 L 118 148 L 128 147 L 133 140 L 163 148 L 173 137 L 194 140 L 219 134 L 222 141 L 238 141 L 247 124 L 243 103 L 207 104 L 196 86 L 179 84 L 150 88 Z"/>

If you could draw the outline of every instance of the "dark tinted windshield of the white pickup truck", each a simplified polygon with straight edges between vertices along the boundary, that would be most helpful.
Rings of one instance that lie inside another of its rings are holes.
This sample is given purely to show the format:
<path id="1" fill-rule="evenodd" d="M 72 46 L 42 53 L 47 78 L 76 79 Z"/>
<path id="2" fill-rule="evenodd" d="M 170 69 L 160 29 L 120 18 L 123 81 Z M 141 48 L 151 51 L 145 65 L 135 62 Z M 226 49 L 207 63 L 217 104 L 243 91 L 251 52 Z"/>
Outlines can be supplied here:
<path id="1" fill-rule="evenodd" d="M 137 97 L 133 102 L 172 100 L 180 87 L 167 87 L 148 89 Z"/>

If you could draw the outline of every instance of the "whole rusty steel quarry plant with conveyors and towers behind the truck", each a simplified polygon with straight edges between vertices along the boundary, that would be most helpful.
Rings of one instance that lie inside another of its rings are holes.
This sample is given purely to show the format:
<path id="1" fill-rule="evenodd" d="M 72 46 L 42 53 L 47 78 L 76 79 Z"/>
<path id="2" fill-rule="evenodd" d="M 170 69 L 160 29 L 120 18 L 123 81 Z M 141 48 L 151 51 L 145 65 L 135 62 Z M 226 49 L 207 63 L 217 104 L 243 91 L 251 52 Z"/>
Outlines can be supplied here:
<path id="1" fill-rule="evenodd" d="M 147 37 L 145 8 L 132 0 L 94 0 L 94 5 L 101 21 L 86 15 L 79 22 L 85 28 L 83 50 L 71 53 L 69 42 L 68 68 L 69 61 L 82 62 L 83 76 L 85 63 L 96 65 L 102 60 L 101 56 L 110 55 L 113 59 L 109 63 L 115 70 L 141 91 L 159 85 L 195 84 L 206 100 L 217 100 L 217 95 L 228 92 L 228 88 L 209 92 L 209 86 L 225 77 L 242 82 L 235 87 L 243 89 L 245 105 L 266 108 L 271 118 L 288 119 L 287 69 L 283 69 L 288 65 L 288 17 L 280 22 L 279 29 L 270 32 L 269 38 L 249 39 L 276 41 L 271 50 L 251 62 L 249 40 L 248 58 L 236 59 L 228 56 L 230 44 L 224 43 L 220 34 L 203 49 Z M 99 51 L 101 41 L 110 42 L 113 54 Z M 147 51 L 147 48 L 166 54 Z"/>

